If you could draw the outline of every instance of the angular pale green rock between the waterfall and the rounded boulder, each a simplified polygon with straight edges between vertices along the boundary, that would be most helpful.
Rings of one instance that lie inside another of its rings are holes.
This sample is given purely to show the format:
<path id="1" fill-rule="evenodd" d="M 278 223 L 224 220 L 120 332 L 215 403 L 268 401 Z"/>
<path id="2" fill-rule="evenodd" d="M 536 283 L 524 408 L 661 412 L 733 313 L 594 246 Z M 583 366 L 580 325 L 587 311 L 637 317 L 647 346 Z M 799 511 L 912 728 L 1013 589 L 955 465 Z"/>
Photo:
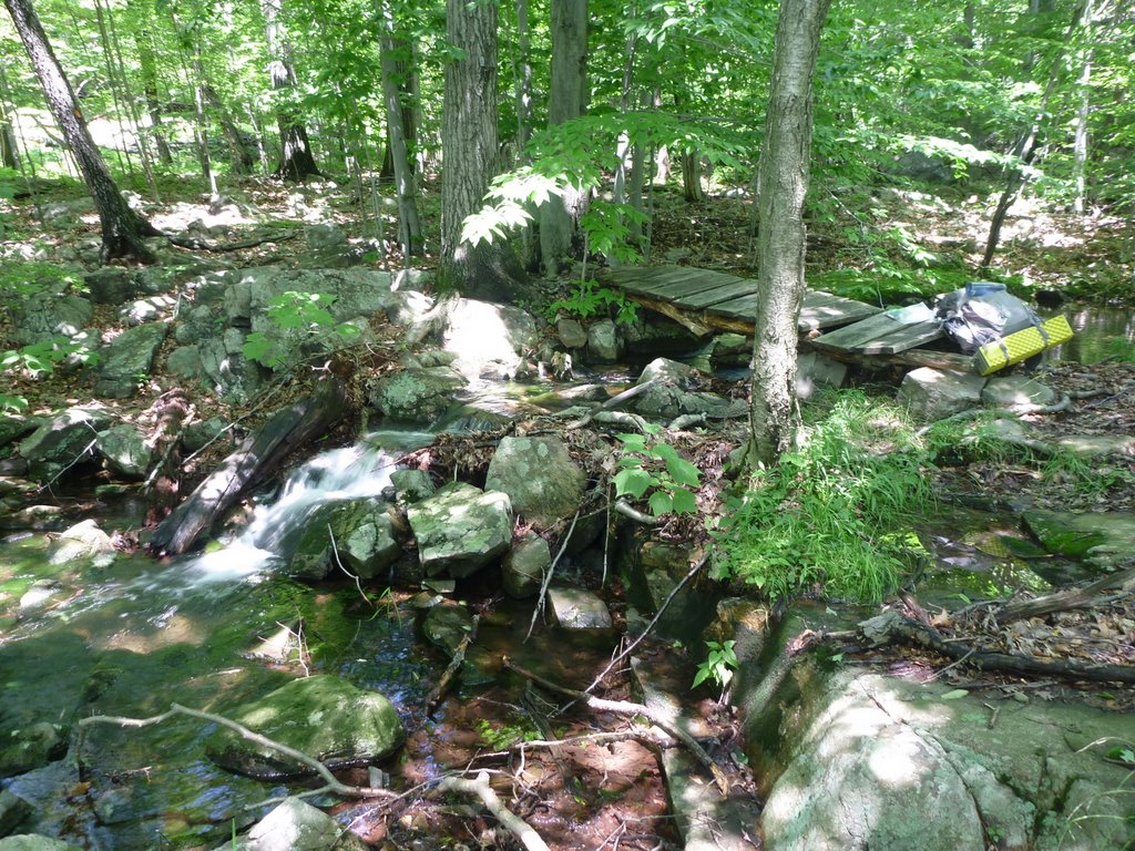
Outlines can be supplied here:
<path id="1" fill-rule="evenodd" d="M 512 504 L 499 491 L 454 482 L 411 505 L 406 513 L 428 576 L 468 576 L 512 544 Z"/>

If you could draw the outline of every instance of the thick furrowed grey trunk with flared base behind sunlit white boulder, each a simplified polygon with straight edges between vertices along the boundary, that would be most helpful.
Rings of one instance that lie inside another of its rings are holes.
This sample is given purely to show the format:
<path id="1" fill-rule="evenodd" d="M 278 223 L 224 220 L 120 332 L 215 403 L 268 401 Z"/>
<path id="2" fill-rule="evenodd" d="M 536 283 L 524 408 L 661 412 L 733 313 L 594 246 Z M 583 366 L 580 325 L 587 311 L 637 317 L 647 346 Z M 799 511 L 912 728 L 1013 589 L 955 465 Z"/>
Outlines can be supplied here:
<path id="1" fill-rule="evenodd" d="M 507 243 L 461 238 L 497 168 L 496 5 L 447 0 L 446 39 L 455 58 L 445 66 L 442 108 L 442 278 L 466 295 L 503 298 L 516 285 Z"/>

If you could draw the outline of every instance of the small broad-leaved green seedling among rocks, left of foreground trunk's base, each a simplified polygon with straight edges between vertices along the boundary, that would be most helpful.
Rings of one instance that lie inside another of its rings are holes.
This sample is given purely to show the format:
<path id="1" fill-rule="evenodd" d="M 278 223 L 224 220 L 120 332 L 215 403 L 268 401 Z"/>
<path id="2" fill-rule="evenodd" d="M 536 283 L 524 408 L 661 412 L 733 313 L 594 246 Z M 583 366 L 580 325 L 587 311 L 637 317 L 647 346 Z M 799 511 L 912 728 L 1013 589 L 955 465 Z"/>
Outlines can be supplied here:
<path id="1" fill-rule="evenodd" d="M 649 435 L 619 435 L 623 454 L 622 467 L 614 478 L 615 495 L 632 499 L 647 497 L 650 513 L 692 514 L 698 509 L 692 489 L 701 483 L 701 473 L 693 464 L 678 454 L 670 444 L 653 439 L 658 427 L 650 427 Z"/>

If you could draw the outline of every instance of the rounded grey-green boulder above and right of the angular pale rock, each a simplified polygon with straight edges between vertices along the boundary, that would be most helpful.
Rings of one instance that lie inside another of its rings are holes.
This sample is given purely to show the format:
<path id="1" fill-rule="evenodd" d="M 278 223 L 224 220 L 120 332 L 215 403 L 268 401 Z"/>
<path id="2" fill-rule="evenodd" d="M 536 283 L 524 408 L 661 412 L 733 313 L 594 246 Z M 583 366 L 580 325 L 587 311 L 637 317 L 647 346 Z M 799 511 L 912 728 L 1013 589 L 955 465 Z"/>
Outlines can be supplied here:
<path id="1" fill-rule="evenodd" d="M 587 475 L 558 437 L 505 437 L 489 461 L 485 487 L 508 495 L 512 509 L 547 529 L 572 516 Z"/>

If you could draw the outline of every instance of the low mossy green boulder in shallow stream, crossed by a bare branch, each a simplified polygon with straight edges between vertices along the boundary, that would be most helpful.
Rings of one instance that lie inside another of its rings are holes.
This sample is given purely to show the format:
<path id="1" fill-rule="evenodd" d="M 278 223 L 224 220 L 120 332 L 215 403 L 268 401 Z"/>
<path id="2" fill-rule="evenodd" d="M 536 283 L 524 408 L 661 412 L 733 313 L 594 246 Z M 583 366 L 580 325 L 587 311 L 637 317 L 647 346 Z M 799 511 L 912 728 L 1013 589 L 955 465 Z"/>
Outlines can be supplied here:
<path id="1" fill-rule="evenodd" d="M 402 719 L 389 700 L 327 674 L 293 680 L 260 700 L 229 711 L 228 717 L 280 744 L 331 764 L 384 759 L 402 747 L 406 738 Z M 222 768 L 250 776 L 303 770 L 300 762 L 227 728 L 209 736 L 205 752 Z"/>

